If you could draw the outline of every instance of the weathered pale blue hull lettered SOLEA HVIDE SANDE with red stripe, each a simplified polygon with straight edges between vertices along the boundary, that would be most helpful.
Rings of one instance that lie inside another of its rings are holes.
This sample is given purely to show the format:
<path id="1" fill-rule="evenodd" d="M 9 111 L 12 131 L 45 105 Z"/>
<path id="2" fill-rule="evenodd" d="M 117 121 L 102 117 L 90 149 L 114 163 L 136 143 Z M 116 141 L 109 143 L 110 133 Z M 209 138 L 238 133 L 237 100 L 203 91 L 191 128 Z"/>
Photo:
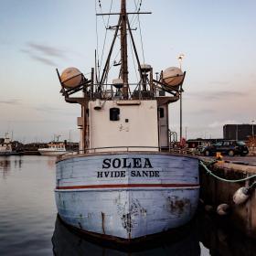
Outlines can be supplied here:
<path id="1" fill-rule="evenodd" d="M 186 156 L 82 155 L 57 164 L 60 218 L 125 240 L 186 224 L 197 210 L 198 192 L 198 160 Z"/>

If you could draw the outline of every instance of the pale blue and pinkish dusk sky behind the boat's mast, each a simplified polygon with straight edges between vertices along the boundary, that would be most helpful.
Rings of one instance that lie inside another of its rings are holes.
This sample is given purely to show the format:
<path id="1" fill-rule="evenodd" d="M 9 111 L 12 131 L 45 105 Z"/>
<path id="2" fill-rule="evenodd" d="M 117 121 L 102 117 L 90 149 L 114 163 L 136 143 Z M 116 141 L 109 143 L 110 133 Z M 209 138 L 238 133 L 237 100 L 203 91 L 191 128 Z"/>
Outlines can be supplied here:
<path id="1" fill-rule="evenodd" d="M 109 12 L 111 2 L 112 11 L 118 11 L 120 0 L 101 0 L 103 12 Z M 140 1 L 127 2 L 134 11 L 134 2 Z M 0 137 L 13 131 L 21 142 L 48 142 L 54 134 L 64 140 L 71 133 L 78 141 L 80 106 L 64 101 L 55 69 L 77 67 L 88 73 L 94 66 L 95 1 L 0 4 Z M 98 0 L 96 5 L 100 12 Z M 178 66 L 177 56 L 185 54 L 187 138 L 222 137 L 223 124 L 256 120 L 256 1 L 144 0 L 141 10 L 153 12 L 140 18 L 145 63 L 160 72 Z M 103 22 L 97 20 L 101 49 Z M 139 30 L 134 33 L 143 59 Z M 170 128 L 176 132 L 178 115 L 176 102 L 170 105 Z"/>

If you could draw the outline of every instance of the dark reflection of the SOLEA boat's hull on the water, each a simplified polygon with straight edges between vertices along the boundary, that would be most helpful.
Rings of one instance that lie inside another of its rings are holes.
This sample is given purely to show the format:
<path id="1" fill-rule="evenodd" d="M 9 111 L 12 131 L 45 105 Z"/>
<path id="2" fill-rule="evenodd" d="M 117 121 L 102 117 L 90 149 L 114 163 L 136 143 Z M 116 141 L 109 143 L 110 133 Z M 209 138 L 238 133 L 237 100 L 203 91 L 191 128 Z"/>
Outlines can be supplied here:
<path id="1" fill-rule="evenodd" d="M 185 230 L 184 230 L 185 231 Z M 68 255 L 178 255 L 198 256 L 200 255 L 199 240 L 195 232 L 189 231 L 179 233 L 180 240 L 165 237 L 161 242 L 130 248 L 117 247 L 114 244 L 101 244 L 90 241 L 88 238 L 80 237 L 77 233 L 67 228 L 59 217 L 56 219 L 55 230 L 52 237 L 53 252 L 56 256 Z"/>

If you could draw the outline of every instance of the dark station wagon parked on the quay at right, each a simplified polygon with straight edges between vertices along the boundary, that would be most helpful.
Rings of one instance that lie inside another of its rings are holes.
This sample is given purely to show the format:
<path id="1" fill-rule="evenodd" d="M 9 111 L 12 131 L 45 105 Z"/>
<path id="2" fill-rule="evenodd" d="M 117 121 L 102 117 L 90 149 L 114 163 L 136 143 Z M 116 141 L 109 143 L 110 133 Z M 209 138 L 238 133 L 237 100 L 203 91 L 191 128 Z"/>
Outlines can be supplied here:
<path id="1" fill-rule="evenodd" d="M 215 144 L 208 145 L 202 150 L 202 153 L 206 156 L 216 155 L 216 152 L 220 152 L 222 155 L 244 156 L 249 153 L 249 150 L 246 144 L 240 141 L 221 141 Z"/>

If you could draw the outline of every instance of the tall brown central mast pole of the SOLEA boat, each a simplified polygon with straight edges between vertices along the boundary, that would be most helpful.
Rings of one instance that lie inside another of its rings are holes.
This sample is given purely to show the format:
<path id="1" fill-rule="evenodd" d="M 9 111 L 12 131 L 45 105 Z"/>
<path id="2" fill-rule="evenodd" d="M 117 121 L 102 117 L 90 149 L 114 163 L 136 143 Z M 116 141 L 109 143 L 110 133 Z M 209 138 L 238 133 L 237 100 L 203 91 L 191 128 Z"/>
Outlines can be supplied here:
<path id="1" fill-rule="evenodd" d="M 123 99 L 128 99 L 128 61 L 127 61 L 127 13 L 126 0 L 121 5 L 121 75 L 123 79 Z"/>

